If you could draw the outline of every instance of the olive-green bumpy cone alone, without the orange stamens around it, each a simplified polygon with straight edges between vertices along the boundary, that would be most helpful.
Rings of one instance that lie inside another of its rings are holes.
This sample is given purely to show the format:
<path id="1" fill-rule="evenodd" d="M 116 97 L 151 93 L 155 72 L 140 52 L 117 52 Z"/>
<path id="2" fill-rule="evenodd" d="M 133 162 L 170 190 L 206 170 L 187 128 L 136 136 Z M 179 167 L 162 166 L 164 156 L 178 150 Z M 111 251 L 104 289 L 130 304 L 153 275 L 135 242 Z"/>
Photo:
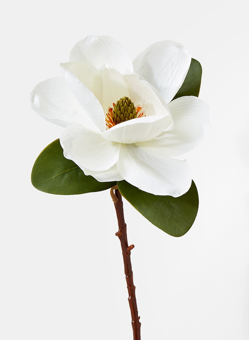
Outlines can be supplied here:
<path id="1" fill-rule="evenodd" d="M 120 98 L 113 107 L 113 122 L 119 124 L 134 118 L 137 118 L 135 105 L 128 97 Z"/>

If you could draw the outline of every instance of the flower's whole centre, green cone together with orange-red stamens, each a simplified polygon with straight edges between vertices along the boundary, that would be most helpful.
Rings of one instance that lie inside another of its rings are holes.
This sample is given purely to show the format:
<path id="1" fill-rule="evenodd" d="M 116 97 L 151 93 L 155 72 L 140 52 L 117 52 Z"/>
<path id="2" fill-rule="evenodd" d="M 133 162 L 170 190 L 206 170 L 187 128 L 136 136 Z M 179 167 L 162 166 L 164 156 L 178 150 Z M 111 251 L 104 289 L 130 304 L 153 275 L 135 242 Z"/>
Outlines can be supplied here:
<path id="1" fill-rule="evenodd" d="M 145 117 L 144 113 L 139 113 L 142 107 L 135 107 L 134 103 L 128 97 L 120 98 L 117 104 L 113 103 L 113 108 L 109 106 L 108 113 L 106 115 L 106 127 L 107 129 L 113 126 L 126 122 L 134 118 Z"/>

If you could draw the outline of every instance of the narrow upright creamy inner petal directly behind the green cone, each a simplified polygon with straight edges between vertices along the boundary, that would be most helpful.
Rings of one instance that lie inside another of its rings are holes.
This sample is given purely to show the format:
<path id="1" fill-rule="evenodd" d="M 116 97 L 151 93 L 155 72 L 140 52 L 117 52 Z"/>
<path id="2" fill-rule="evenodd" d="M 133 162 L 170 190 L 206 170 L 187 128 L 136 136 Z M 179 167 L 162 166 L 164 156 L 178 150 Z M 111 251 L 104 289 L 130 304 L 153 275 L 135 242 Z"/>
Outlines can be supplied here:
<path id="1" fill-rule="evenodd" d="M 128 91 L 123 79 L 123 75 L 109 65 L 101 65 L 99 72 L 103 79 L 103 110 L 108 113 L 109 106 L 117 103 L 120 98 L 128 97 Z"/>

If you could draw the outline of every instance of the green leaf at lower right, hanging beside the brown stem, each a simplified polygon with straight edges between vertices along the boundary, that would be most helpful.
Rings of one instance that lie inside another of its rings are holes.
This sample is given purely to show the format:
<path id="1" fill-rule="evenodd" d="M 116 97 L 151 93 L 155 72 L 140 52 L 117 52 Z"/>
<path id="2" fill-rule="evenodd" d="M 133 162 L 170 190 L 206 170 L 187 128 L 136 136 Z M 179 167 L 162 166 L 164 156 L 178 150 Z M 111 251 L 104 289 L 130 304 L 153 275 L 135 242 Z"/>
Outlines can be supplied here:
<path id="1" fill-rule="evenodd" d="M 122 196 L 147 220 L 165 233 L 179 237 L 194 223 L 198 211 L 198 192 L 194 181 L 180 197 L 159 196 L 142 191 L 126 181 L 117 182 Z"/>

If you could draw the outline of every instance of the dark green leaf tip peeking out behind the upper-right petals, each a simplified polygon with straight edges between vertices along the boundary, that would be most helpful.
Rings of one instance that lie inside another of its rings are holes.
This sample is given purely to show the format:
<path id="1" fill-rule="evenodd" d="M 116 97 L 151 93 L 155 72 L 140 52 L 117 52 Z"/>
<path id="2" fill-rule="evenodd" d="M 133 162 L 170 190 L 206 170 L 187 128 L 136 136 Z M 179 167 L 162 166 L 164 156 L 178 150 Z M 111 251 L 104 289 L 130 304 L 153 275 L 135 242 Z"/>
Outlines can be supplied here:
<path id="1" fill-rule="evenodd" d="M 200 92 L 201 74 L 201 64 L 192 58 L 186 78 L 172 100 L 183 96 L 198 97 Z"/>

